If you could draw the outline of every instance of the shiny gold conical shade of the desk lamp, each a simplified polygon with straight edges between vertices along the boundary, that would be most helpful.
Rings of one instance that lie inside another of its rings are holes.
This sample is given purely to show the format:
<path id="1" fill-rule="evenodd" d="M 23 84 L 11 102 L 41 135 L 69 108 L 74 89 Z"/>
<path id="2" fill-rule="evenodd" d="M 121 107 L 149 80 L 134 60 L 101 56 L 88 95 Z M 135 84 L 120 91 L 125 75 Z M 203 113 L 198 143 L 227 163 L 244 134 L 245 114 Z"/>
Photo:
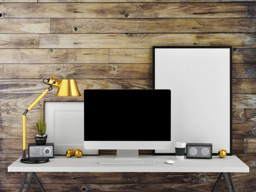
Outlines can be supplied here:
<path id="1" fill-rule="evenodd" d="M 55 83 L 56 84 L 56 83 Z M 75 79 L 62 79 L 57 83 L 59 89 L 56 96 L 59 97 L 77 97 L 81 96 Z"/>

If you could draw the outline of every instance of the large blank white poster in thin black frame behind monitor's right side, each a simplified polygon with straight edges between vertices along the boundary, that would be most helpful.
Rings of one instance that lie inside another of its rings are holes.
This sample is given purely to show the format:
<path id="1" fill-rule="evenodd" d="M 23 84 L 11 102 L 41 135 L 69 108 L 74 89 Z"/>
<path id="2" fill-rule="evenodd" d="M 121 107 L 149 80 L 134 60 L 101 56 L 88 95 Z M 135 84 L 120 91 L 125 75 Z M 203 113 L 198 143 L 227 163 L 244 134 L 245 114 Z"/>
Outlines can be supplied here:
<path id="1" fill-rule="evenodd" d="M 153 47 L 153 89 L 170 89 L 175 142 L 212 143 L 232 155 L 232 47 Z"/>

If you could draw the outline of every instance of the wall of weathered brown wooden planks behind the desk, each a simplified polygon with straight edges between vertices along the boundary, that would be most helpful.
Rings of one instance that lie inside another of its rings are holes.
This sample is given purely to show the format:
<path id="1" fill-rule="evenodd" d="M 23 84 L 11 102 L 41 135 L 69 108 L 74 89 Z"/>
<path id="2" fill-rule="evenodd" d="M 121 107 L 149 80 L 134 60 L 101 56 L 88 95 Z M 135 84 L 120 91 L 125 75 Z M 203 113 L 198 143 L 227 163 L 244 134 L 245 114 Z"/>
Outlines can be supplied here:
<path id="1" fill-rule="evenodd" d="M 152 46 L 233 46 L 233 153 L 256 191 L 255 0 L 0 0 L 0 191 L 17 191 L 22 114 L 46 85 L 75 78 L 84 89 L 152 89 Z M 27 116 L 27 143 L 49 92 Z M 62 100 L 83 100 L 62 98 Z M 216 119 L 218 121 L 218 119 Z M 100 154 L 113 154 L 100 151 Z M 151 151 L 141 153 L 152 153 Z M 38 173 L 47 191 L 210 191 L 216 173 Z M 26 185 L 25 185 L 26 186 Z M 33 181 L 30 191 L 38 191 Z M 227 191 L 222 181 L 218 191 Z"/>

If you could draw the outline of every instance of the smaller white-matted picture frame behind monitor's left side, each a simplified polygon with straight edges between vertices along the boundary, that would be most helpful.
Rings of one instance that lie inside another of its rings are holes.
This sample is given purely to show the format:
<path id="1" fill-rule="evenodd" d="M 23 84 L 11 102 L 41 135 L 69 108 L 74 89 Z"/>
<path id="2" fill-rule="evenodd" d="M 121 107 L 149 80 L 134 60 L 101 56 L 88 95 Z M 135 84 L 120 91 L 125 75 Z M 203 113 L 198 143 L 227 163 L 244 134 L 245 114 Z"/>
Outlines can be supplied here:
<path id="1" fill-rule="evenodd" d="M 82 150 L 83 155 L 98 155 L 98 150 L 84 150 L 83 108 L 81 101 L 45 101 L 47 143 L 54 143 L 54 155 L 66 155 L 68 149 Z"/>

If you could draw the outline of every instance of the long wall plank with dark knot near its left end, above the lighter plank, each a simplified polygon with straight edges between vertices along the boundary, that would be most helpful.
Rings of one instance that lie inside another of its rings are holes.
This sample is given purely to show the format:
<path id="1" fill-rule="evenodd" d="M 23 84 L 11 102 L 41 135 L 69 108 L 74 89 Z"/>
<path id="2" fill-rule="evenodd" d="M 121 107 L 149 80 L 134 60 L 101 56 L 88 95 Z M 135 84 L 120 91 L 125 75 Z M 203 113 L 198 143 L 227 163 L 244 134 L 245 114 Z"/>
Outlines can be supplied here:
<path id="1" fill-rule="evenodd" d="M 254 33 L 248 18 L 53 18 L 51 33 Z"/>

